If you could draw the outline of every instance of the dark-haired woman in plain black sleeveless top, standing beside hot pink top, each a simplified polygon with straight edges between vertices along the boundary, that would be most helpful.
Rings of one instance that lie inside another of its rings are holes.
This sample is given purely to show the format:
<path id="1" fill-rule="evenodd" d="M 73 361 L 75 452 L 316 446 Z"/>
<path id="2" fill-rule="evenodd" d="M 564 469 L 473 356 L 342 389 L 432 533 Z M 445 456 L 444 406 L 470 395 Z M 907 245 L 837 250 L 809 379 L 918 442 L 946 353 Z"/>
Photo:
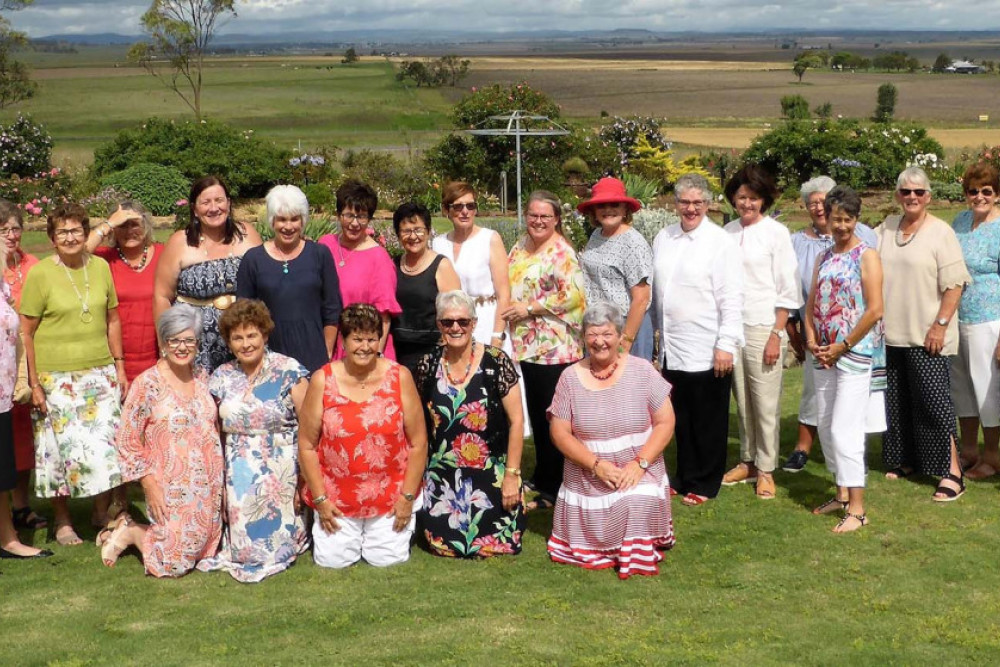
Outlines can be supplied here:
<path id="1" fill-rule="evenodd" d="M 441 292 L 461 289 L 462 283 L 447 257 L 428 247 L 431 212 L 407 202 L 392 214 L 392 228 L 403 256 L 396 262 L 396 301 L 402 312 L 392 318 L 396 360 L 416 377 L 417 363 L 441 342 L 434 300 Z"/>

